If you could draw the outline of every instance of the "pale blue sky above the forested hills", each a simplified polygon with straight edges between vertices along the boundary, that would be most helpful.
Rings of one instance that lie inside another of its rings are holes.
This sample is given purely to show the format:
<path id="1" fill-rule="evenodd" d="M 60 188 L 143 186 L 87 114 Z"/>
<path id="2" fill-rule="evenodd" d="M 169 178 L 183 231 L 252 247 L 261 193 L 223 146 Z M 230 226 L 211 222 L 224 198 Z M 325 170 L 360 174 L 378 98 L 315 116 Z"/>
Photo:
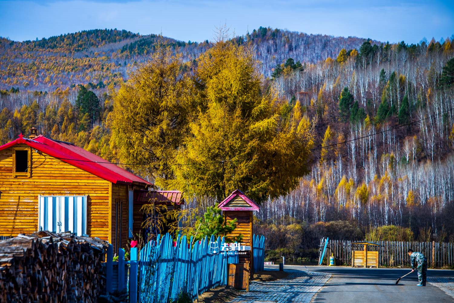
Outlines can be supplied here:
<path id="1" fill-rule="evenodd" d="M 0 0 L 0 36 L 34 40 L 117 28 L 184 41 L 212 40 L 219 25 L 417 43 L 454 34 L 454 1 L 391 0 Z"/>

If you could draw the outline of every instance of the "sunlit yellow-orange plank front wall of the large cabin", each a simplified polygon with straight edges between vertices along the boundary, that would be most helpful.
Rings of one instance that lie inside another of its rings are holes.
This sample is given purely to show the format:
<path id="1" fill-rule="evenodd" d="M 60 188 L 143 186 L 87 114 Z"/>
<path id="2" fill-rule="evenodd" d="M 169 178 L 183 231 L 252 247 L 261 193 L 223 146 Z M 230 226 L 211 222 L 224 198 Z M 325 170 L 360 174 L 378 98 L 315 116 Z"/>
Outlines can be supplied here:
<path id="1" fill-rule="evenodd" d="M 110 182 L 31 150 L 31 177 L 16 178 L 12 177 L 13 148 L 0 151 L 0 236 L 38 230 L 39 195 L 87 195 L 87 232 L 109 240 Z"/>

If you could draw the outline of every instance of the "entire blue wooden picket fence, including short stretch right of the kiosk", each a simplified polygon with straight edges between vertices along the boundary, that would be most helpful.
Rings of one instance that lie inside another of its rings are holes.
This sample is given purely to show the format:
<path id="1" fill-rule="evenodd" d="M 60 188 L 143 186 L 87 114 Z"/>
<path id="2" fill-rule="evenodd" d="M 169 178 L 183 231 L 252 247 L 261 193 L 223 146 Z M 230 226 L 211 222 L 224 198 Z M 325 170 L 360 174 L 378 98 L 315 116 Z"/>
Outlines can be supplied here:
<path id="1" fill-rule="evenodd" d="M 237 253 L 221 251 L 223 243 L 224 238 L 214 236 L 201 241 L 178 236 L 173 241 L 166 234 L 147 243 L 140 256 L 137 248 L 131 248 L 130 261 L 124 260 L 124 250 L 120 248 L 118 262 L 112 262 L 110 246 L 106 288 L 110 292 L 126 288 L 130 303 L 168 303 L 182 293 L 195 299 L 210 288 L 226 285 L 227 263 L 238 263 Z M 253 250 L 254 271 L 263 270 L 264 236 L 253 236 Z"/>

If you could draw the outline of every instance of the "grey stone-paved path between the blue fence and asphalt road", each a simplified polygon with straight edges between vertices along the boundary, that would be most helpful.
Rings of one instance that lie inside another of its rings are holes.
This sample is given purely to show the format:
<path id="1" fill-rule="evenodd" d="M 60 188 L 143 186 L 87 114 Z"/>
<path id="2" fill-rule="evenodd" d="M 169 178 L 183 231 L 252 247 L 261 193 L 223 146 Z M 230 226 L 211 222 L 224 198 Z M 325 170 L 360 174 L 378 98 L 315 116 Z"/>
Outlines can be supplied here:
<path id="1" fill-rule="evenodd" d="M 287 277 L 269 282 L 252 281 L 249 292 L 241 293 L 230 303 L 309 303 L 331 277 L 326 273 L 285 270 Z"/>

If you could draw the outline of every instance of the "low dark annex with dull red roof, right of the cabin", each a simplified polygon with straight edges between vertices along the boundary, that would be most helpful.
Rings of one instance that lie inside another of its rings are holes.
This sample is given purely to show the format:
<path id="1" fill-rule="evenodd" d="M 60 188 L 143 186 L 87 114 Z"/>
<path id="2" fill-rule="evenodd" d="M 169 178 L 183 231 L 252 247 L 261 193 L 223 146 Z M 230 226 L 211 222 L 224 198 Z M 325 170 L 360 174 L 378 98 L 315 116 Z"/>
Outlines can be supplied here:
<path id="1" fill-rule="evenodd" d="M 152 203 L 165 205 L 165 208 L 161 210 L 179 210 L 181 209 L 181 205 L 184 204 L 184 199 L 182 193 L 178 190 L 135 190 L 133 233 L 134 235 L 140 234 L 143 239 L 148 239 L 148 233 L 152 233 L 152 231 L 142 226 L 142 222 L 147 219 L 147 214 L 144 214 L 141 209 L 143 205 Z M 164 234 L 168 231 L 168 227 L 164 226 L 163 230 L 159 230 L 158 232 Z"/>

